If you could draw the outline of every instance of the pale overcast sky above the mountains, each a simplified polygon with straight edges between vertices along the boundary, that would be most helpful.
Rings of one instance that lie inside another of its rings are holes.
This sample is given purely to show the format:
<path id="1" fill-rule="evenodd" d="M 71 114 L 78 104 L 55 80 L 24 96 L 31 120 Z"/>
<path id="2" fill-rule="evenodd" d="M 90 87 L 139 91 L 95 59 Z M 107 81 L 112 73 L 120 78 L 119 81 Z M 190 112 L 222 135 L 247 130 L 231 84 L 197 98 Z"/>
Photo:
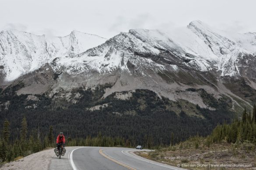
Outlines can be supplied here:
<path id="1" fill-rule="evenodd" d="M 256 0 L 0 0 L 0 30 L 64 36 L 77 30 L 110 38 L 131 28 L 173 29 L 201 20 L 256 32 Z"/>

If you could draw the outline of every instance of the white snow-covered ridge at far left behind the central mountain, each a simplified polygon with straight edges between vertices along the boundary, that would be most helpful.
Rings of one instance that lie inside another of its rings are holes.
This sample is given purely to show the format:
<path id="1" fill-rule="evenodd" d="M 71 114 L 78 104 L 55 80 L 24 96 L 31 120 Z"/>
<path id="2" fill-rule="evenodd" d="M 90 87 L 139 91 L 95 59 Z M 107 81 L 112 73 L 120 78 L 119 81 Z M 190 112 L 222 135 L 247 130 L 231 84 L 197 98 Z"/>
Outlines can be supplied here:
<path id="1" fill-rule="evenodd" d="M 0 66 L 5 80 L 11 81 L 56 57 L 79 54 L 107 39 L 72 31 L 66 37 L 46 37 L 11 30 L 0 32 Z"/>

